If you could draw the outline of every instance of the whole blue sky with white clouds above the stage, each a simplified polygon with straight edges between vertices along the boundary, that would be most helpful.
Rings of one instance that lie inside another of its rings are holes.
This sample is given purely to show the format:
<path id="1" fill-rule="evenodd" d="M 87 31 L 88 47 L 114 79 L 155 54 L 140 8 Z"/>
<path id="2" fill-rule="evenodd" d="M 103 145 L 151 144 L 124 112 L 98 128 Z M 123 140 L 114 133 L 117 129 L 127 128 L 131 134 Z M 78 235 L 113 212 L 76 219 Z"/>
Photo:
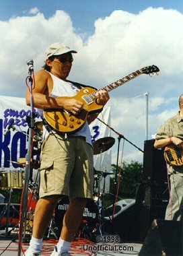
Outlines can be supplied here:
<path id="1" fill-rule="evenodd" d="M 0 88 L 3 96 L 24 97 L 28 59 L 42 67 L 53 42 L 65 42 L 74 55 L 69 79 L 98 89 L 143 67 L 142 74 L 110 92 L 112 162 L 143 161 L 145 139 L 176 115 L 182 94 L 182 0 L 0 1 Z M 147 125 L 148 124 L 148 125 Z M 133 146 L 131 143 L 135 146 Z"/>

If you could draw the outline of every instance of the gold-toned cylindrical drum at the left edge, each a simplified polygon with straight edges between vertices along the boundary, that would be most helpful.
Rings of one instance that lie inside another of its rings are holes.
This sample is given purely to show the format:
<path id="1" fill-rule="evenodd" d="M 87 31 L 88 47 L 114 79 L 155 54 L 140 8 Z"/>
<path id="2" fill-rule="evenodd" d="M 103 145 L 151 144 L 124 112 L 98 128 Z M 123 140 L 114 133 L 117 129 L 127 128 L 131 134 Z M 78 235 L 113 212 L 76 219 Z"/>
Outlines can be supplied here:
<path id="1" fill-rule="evenodd" d="M 7 170 L 0 172 L 0 188 L 22 189 L 24 187 L 25 174 L 23 170 Z"/>

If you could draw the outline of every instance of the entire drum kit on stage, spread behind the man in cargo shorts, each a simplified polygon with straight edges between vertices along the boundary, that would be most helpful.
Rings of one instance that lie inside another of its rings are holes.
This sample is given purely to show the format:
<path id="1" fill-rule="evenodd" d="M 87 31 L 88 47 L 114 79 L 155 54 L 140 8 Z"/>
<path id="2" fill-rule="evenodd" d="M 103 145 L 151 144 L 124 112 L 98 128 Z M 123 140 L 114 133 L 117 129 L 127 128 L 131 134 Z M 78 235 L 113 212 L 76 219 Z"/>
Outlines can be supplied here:
<path id="1" fill-rule="evenodd" d="M 38 138 L 36 138 L 36 143 Z M 104 137 L 94 141 L 94 155 L 102 154 L 103 152 L 109 150 L 114 145 L 115 139 L 113 137 Z M 24 187 L 24 160 L 20 159 L 20 170 L 0 170 L 0 189 L 8 189 L 9 190 L 9 203 L 4 204 L 4 208 L 0 214 L 0 228 L 5 226 L 5 236 L 10 234 L 11 230 L 18 227 L 18 218 L 19 218 L 19 210 L 17 207 L 13 209 L 16 212 L 16 221 L 14 226 L 10 225 L 10 212 L 12 211 L 13 205 L 11 203 L 11 192 L 12 189 L 22 189 Z M 32 163 L 32 168 L 38 168 L 39 162 Z M 22 170 L 23 169 L 23 170 Z M 77 237 L 88 238 L 93 241 L 94 236 L 97 234 L 102 235 L 103 227 L 104 227 L 104 193 L 105 193 L 105 185 L 106 185 L 106 177 L 108 175 L 114 174 L 113 172 L 106 172 L 102 170 L 96 170 L 94 168 L 94 199 L 88 200 L 87 205 L 85 206 L 85 210 L 83 212 L 83 218 L 81 224 L 79 226 L 79 230 L 76 234 Z M 103 187 L 101 189 L 101 181 L 104 180 Z M 29 182 L 28 185 L 28 201 L 27 201 L 27 219 L 26 219 L 26 233 L 32 234 L 32 225 L 34 220 L 34 211 L 36 208 L 36 203 L 38 201 L 38 181 Z M 50 235 L 53 234 L 55 238 L 59 238 L 61 228 L 62 228 L 62 220 L 67 211 L 67 207 L 69 205 L 69 198 L 62 197 L 57 202 L 57 205 L 54 209 L 54 213 L 52 215 L 52 220 L 50 225 L 48 226 L 48 230 L 46 232 L 47 238 L 50 238 Z M 19 205 L 20 206 L 20 205 Z M 1 207 L 1 204 L 0 204 Z M 6 220 L 6 221 L 5 221 Z M 12 229 L 9 231 L 9 227 Z"/>

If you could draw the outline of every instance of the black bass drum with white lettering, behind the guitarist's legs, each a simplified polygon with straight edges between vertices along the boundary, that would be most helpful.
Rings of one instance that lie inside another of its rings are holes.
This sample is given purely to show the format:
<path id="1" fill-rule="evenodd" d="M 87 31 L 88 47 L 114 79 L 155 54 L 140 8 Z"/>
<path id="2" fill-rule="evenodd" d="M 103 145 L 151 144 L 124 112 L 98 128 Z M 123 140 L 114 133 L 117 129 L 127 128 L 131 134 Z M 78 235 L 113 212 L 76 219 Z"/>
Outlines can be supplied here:
<path id="1" fill-rule="evenodd" d="M 69 198 L 63 197 L 58 201 L 54 210 L 55 232 L 58 238 L 61 234 L 61 229 L 63 227 L 63 218 L 65 216 L 65 212 L 67 211 L 68 207 L 69 207 Z M 79 226 L 79 230 L 82 230 L 83 227 L 86 225 L 89 232 L 95 232 L 99 225 L 98 207 L 95 201 L 93 200 L 87 201 L 87 204 L 83 212 L 83 218 Z"/>

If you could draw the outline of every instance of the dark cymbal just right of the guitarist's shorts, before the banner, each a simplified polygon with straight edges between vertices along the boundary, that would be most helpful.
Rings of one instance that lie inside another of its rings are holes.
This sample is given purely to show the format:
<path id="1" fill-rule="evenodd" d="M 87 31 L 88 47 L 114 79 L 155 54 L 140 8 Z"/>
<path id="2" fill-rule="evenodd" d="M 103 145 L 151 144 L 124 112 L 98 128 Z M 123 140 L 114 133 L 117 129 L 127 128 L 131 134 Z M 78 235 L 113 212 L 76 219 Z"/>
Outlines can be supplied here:
<path id="1" fill-rule="evenodd" d="M 109 150 L 114 145 L 115 139 L 113 137 L 104 137 L 94 141 L 94 155 L 100 154 Z"/>

